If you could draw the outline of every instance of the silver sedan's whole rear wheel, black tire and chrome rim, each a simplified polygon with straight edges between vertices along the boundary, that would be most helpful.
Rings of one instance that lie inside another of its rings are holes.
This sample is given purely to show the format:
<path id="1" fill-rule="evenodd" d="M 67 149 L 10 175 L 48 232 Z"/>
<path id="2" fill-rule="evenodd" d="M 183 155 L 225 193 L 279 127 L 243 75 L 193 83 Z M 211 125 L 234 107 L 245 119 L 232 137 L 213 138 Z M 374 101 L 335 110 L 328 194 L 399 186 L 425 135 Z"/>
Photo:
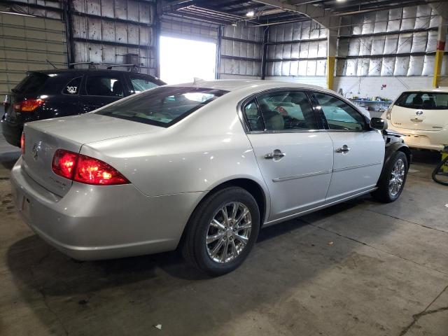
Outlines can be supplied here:
<path id="1" fill-rule="evenodd" d="M 238 187 L 207 197 L 188 222 L 183 256 L 211 276 L 236 269 L 247 258 L 260 230 L 260 211 L 253 196 Z"/>

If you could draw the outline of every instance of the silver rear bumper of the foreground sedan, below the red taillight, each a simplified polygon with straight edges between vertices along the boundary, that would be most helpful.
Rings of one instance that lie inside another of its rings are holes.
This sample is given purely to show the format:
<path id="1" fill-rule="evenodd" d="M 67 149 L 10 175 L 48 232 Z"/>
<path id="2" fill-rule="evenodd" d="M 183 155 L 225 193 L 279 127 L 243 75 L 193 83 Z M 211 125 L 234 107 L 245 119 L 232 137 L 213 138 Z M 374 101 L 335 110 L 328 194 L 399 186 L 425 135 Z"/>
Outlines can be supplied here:
<path id="1" fill-rule="evenodd" d="M 148 197 L 131 184 L 82 183 L 73 183 L 59 197 L 28 176 L 22 158 L 13 167 L 10 181 L 15 205 L 29 227 L 78 260 L 174 250 L 202 197 L 202 193 Z"/>

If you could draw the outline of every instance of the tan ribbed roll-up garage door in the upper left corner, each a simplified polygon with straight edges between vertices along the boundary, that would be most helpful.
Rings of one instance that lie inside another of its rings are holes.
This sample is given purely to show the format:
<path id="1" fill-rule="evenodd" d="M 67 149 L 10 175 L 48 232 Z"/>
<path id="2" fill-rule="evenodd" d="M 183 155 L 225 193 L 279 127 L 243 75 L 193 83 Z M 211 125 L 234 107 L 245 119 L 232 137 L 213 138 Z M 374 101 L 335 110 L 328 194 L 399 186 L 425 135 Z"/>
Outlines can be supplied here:
<path id="1" fill-rule="evenodd" d="M 11 5 L 18 13 L 36 17 L 0 13 L 0 94 L 7 94 L 29 70 L 66 66 L 67 48 L 62 10 L 58 1 L 39 1 L 47 8 Z M 29 3 L 36 1 L 29 0 Z M 0 4 L 0 10 L 9 11 Z"/>

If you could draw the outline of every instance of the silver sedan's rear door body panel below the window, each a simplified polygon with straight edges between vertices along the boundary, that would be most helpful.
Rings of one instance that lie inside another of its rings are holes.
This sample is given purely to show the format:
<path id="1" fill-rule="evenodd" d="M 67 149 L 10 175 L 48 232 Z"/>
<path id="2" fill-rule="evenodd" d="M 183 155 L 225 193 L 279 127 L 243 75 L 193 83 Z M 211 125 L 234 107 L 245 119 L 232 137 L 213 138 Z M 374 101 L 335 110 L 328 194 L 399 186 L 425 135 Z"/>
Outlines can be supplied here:
<path id="1" fill-rule="evenodd" d="M 316 207 L 325 201 L 333 147 L 326 132 L 248 134 L 271 195 L 269 221 Z M 283 158 L 265 159 L 279 149 Z"/>

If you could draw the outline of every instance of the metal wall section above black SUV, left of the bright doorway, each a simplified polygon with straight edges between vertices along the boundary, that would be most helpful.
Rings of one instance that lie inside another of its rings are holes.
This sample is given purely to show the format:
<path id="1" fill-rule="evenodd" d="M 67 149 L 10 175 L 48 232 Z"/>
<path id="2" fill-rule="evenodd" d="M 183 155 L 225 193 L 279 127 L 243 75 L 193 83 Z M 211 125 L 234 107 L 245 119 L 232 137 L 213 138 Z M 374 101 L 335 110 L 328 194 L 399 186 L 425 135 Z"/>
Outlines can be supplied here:
<path id="1" fill-rule="evenodd" d="M 156 72 L 155 2 L 73 0 L 74 62 L 125 64 L 137 54 L 140 72 Z"/>

